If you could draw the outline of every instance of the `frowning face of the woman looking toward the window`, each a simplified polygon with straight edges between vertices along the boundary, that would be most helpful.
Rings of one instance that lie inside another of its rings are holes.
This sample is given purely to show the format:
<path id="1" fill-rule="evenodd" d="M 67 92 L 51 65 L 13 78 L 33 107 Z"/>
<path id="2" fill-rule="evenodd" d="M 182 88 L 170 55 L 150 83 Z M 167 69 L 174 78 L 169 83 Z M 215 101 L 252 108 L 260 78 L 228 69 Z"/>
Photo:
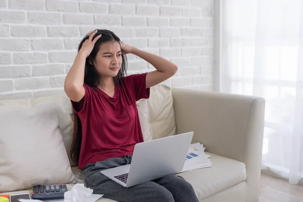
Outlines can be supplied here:
<path id="1" fill-rule="evenodd" d="M 100 76 L 117 76 L 122 63 L 120 43 L 109 41 L 101 44 L 93 63 Z"/>

